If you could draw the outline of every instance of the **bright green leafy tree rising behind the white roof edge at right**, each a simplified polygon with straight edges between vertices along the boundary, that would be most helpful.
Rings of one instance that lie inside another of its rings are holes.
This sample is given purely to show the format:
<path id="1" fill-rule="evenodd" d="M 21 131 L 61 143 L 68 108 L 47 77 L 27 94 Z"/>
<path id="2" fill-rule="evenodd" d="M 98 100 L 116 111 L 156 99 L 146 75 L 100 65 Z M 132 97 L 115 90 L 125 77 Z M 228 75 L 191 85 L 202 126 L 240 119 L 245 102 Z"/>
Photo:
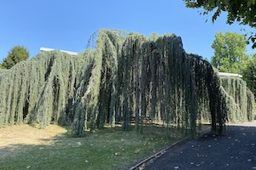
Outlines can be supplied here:
<path id="1" fill-rule="evenodd" d="M 247 40 L 244 35 L 230 31 L 224 34 L 221 31 L 217 32 L 212 42 L 212 65 L 218 71 L 242 74 L 249 60 L 246 46 Z"/>

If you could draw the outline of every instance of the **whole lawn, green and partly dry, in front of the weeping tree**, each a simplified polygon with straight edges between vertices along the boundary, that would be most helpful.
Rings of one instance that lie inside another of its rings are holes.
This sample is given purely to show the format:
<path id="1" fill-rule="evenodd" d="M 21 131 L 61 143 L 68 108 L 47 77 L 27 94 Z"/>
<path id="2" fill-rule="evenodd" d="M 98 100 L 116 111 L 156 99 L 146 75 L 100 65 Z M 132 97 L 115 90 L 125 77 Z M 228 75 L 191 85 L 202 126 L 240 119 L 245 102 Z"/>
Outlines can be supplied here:
<path id="1" fill-rule="evenodd" d="M 182 139 L 177 130 L 144 127 L 143 134 L 103 128 L 72 138 L 67 127 L 29 125 L 0 128 L 0 169 L 129 169 Z M 170 133 L 170 132 L 169 132 Z"/>

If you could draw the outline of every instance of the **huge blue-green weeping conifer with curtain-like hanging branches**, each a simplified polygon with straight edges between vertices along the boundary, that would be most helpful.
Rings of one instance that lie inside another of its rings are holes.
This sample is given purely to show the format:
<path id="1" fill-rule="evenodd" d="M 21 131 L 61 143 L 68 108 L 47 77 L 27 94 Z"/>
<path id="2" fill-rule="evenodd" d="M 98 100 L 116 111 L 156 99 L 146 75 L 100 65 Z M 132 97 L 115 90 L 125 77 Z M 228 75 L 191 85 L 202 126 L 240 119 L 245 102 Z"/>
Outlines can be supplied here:
<path id="1" fill-rule="evenodd" d="M 223 133 L 227 121 L 251 120 L 253 99 L 243 81 L 225 82 L 206 60 L 186 54 L 180 37 L 122 30 L 94 32 L 84 54 L 43 52 L 0 71 L 0 89 L 0 126 L 72 125 L 76 137 L 118 123 L 195 137 L 210 122 Z"/>

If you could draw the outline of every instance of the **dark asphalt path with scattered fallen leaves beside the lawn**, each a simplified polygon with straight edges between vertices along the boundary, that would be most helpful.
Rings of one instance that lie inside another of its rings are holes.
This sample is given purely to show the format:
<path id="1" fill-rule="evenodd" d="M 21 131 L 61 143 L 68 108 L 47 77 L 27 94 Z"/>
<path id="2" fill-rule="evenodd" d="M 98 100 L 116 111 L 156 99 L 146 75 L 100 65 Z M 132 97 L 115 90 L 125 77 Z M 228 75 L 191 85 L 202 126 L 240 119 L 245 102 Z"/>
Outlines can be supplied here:
<path id="1" fill-rule="evenodd" d="M 225 136 L 205 135 L 167 150 L 146 170 L 256 170 L 256 122 L 228 126 Z"/>

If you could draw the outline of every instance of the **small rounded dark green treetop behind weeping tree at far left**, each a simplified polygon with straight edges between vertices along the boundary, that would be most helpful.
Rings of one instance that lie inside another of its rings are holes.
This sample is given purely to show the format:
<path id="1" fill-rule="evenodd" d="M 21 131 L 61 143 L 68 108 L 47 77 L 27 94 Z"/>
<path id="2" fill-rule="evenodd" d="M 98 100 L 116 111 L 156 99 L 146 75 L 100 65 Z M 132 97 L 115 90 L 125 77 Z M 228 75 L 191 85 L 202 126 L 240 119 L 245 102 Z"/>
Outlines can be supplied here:
<path id="1" fill-rule="evenodd" d="M 2 67 L 10 69 L 22 60 L 26 60 L 29 57 L 29 51 L 24 46 L 15 46 L 8 52 L 8 56 L 3 59 Z"/>

